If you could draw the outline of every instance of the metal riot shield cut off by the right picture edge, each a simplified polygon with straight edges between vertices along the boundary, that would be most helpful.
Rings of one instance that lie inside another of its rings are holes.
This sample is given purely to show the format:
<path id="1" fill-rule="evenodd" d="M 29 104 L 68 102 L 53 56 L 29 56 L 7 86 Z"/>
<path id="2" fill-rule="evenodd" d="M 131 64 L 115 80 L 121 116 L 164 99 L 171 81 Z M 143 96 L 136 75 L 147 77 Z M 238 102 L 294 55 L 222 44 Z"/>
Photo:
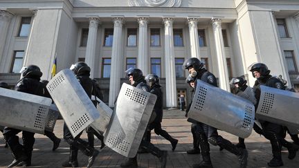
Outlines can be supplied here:
<path id="1" fill-rule="evenodd" d="M 256 118 L 299 128 L 299 94 L 268 86 L 260 86 L 260 88 L 261 95 Z"/>

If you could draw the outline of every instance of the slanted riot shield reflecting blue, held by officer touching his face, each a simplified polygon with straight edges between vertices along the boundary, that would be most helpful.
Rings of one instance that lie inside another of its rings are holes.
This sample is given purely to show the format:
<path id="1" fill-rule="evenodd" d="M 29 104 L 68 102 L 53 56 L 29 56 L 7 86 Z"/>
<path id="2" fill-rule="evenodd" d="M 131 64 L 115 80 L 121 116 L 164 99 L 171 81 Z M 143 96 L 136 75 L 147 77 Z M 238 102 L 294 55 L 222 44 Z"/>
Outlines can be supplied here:
<path id="1" fill-rule="evenodd" d="M 188 117 L 241 138 L 250 136 L 255 107 L 242 97 L 197 80 Z"/>

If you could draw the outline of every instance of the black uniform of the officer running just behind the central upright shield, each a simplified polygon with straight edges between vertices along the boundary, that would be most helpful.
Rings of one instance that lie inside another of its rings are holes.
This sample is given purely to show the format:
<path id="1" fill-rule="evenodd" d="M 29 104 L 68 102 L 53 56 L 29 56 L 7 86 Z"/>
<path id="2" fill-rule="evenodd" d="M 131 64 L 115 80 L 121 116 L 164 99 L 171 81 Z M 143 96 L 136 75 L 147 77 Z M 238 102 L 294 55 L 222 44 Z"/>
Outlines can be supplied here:
<path id="1" fill-rule="evenodd" d="M 161 122 L 163 118 L 163 93 L 161 90 L 161 86 L 158 84 L 154 84 L 154 86 L 152 86 L 150 90 L 150 93 L 157 96 L 156 104 L 154 105 L 153 111 L 153 113 L 156 113 L 156 118 L 154 122 L 150 123 L 147 127 L 147 140 L 150 141 L 151 131 L 152 129 L 154 129 L 156 135 L 163 136 L 166 140 L 170 141 L 170 143 L 172 144 L 172 151 L 174 151 L 178 140 L 172 138 L 172 136 L 170 136 L 167 131 L 161 128 Z"/>

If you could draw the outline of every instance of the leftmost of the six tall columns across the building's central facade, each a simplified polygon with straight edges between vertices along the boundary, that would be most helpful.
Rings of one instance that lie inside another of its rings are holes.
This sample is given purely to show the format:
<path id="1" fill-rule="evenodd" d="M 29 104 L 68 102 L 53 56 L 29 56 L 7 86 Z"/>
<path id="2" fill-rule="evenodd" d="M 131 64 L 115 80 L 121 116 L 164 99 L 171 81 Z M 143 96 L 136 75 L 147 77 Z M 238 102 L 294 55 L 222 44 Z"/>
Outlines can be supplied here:
<path id="1" fill-rule="evenodd" d="M 95 64 L 96 64 L 96 46 L 98 37 L 98 24 L 99 19 L 91 17 L 89 19 L 89 35 L 87 38 L 87 49 L 85 54 L 85 63 L 91 68 L 90 77 L 94 77 Z"/>

